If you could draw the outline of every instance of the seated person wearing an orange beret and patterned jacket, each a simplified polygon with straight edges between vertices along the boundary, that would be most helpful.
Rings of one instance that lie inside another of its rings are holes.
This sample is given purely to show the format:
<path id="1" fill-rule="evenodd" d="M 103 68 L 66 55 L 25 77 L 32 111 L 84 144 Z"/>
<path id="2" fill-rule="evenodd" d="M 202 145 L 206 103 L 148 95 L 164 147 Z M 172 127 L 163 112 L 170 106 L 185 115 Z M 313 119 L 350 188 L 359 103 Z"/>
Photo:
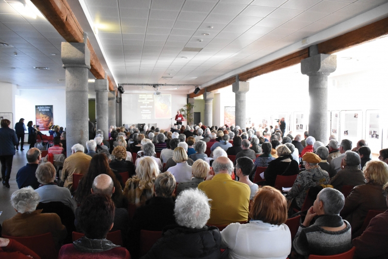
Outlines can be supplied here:
<path id="1" fill-rule="evenodd" d="M 292 200 L 291 208 L 302 208 L 306 199 L 307 190 L 310 187 L 320 184 L 330 184 L 329 174 L 323 171 L 318 165 L 321 162 L 319 156 L 307 152 L 302 160 L 306 170 L 298 174 L 291 190 L 286 195 L 288 200 Z"/>

